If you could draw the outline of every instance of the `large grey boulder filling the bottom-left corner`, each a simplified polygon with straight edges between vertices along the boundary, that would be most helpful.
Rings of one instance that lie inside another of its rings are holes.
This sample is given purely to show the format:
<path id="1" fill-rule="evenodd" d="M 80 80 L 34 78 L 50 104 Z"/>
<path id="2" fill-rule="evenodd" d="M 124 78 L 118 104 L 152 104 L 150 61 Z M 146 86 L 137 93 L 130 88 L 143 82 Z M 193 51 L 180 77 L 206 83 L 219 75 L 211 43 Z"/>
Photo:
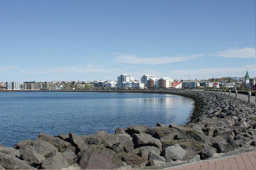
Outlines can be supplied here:
<path id="1" fill-rule="evenodd" d="M 5 169 L 35 169 L 26 161 L 5 153 L 0 153 L 0 165 Z"/>

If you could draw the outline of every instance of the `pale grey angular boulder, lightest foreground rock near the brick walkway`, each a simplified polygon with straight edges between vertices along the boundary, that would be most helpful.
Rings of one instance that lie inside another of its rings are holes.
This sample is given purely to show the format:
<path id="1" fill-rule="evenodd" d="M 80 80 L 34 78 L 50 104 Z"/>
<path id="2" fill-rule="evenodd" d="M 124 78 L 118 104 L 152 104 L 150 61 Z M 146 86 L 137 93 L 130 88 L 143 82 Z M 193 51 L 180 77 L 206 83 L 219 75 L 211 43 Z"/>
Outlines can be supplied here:
<path id="1" fill-rule="evenodd" d="M 178 144 L 165 148 L 162 155 L 170 162 L 171 160 L 182 160 L 186 151 L 182 149 Z"/>

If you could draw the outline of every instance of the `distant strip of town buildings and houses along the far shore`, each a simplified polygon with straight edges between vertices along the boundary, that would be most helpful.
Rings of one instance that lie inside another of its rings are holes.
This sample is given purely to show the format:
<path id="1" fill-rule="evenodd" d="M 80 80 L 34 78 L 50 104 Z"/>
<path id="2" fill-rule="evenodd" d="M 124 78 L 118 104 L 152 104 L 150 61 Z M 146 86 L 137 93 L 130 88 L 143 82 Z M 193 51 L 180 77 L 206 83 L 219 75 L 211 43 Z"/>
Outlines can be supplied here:
<path id="1" fill-rule="evenodd" d="M 189 76 L 189 75 L 188 75 Z M 44 90 L 44 89 L 198 89 L 198 88 L 230 88 L 255 90 L 255 77 L 250 78 L 248 71 L 242 78 L 222 77 L 208 80 L 175 80 L 170 77 L 154 77 L 143 75 L 141 80 L 134 80 L 131 74 L 121 74 L 117 81 L 97 80 L 84 81 L 52 81 L 52 82 L 1 82 L 1 89 L 6 90 Z"/>

